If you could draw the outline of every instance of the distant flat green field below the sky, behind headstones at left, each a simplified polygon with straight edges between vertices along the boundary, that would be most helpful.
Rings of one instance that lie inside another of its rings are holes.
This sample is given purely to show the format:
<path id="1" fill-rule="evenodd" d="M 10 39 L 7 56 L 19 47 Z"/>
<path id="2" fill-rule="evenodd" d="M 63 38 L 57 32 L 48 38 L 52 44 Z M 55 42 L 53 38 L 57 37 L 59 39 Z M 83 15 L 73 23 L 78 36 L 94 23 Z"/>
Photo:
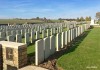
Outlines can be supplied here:
<path id="1" fill-rule="evenodd" d="M 13 23 L 17 23 L 17 24 L 23 24 L 23 23 L 43 23 L 44 21 L 42 20 L 18 20 L 18 19 L 0 19 L 0 24 L 13 24 Z"/>

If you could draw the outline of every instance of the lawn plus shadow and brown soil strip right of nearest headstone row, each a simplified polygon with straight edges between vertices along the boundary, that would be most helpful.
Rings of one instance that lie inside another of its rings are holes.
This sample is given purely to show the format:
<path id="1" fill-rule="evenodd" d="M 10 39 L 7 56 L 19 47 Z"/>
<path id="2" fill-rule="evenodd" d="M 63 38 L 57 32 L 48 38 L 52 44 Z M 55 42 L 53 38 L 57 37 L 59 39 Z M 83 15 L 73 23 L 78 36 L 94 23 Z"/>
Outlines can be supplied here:
<path id="1" fill-rule="evenodd" d="M 99 32 L 100 28 L 85 31 L 39 66 L 51 70 L 100 70 Z"/>

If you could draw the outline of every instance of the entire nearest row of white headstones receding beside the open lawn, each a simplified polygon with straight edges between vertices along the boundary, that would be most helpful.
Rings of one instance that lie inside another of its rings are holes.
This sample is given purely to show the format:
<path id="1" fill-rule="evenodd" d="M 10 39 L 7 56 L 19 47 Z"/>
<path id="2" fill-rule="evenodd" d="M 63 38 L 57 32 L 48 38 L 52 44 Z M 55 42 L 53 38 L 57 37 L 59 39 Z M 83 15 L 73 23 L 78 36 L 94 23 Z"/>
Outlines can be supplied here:
<path id="1" fill-rule="evenodd" d="M 50 55 L 62 48 L 67 47 L 68 43 L 81 35 L 90 27 L 89 24 L 80 25 L 65 32 L 57 33 L 35 42 L 35 65 L 39 65 Z"/>

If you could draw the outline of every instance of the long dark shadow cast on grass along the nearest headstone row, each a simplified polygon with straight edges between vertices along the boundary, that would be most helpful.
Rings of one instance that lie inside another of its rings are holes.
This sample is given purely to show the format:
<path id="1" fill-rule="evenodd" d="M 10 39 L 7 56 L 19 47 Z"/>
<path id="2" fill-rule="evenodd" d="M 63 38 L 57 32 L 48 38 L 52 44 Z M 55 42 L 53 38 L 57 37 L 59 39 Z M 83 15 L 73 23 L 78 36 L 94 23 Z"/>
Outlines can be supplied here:
<path id="1" fill-rule="evenodd" d="M 44 62 L 47 62 L 48 60 L 52 61 L 54 59 L 60 58 L 64 54 L 71 53 L 77 49 L 77 47 L 80 45 L 80 43 L 84 40 L 84 38 L 89 34 L 91 29 L 88 29 L 83 34 L 81 34 L 79 37 L 75 38 L 70 44 L 65 46 L 64 49 L 61 49 L 61 51 L 56 52 L 55 54 L 51 55 L 47 60 Z"/>

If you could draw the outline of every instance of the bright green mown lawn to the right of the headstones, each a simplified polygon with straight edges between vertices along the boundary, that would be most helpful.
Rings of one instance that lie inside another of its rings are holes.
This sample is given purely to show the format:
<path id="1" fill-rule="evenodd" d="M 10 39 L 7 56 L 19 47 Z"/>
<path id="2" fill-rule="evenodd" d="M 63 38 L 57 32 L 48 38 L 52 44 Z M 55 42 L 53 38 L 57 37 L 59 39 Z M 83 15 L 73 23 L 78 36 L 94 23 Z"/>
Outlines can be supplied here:
<path id="1" fill-rule="evenodd" d="M 100 70 L 100 28 L 93 28 L 58 58 L 57 66 L 64 70 Z M 83 38 L 84 37 L 84 38 Z"/>

